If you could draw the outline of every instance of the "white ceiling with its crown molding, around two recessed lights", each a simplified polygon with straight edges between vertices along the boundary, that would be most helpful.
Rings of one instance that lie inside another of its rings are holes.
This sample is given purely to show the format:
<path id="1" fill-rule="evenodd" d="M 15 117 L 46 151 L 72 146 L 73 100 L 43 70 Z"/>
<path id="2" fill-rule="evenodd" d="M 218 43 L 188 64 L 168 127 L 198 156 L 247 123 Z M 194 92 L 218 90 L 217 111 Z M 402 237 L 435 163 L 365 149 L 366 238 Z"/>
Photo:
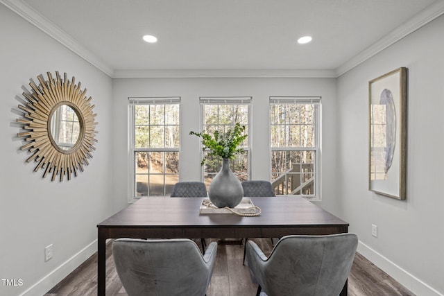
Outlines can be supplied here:
<path id="1" fill-rule="evenodd" d="M 0 2 L 112 77 L 175 71 L 339 76 L 444 12 L 442 0 Z M 144 42 L 146 34 L 158 42 Z M 297 44 L 302 35 L 313 41 Z"/>

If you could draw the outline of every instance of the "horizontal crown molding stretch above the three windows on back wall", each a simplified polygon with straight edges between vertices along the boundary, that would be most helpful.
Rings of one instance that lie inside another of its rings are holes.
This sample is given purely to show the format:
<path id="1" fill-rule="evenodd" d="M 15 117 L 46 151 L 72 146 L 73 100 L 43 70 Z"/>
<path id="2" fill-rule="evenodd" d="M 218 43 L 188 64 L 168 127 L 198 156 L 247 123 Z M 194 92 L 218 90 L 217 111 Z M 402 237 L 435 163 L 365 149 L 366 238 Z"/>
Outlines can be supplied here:
<path id="1" fill-rule="evenodd" d="M 112 78 L 336 78 L 334 70 L 116 70 Z"/>

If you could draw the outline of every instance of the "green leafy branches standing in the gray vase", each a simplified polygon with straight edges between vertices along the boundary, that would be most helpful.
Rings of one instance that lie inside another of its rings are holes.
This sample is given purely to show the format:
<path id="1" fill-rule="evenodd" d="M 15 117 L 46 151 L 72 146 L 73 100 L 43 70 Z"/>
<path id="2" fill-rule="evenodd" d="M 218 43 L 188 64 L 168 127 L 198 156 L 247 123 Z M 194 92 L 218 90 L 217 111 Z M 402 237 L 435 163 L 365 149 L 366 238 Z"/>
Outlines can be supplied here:
<path id="1" fill-rule="evenodd" d="M 237 154 L 245 153 L 245 150 L 242 148 L 238 148 L 238 146 L 247 138 L 247 135 L 244 134 L 245 125 L 240 125 L 236 123 L 234 128 L 227 130 L 225 133 L 220 133 L 219 131 L 215 131 L 213 135 L 205 132 L 189 132 L 189 134 L 202 138 L 202 150 L 210 150 L 210 153 L 207 153 L 200 165 L 203 166 L 205 164 L 205 160 L 208 157 L 213 155 L 220 156 L 222 158 L 234 159 L 234 156 Z"/>

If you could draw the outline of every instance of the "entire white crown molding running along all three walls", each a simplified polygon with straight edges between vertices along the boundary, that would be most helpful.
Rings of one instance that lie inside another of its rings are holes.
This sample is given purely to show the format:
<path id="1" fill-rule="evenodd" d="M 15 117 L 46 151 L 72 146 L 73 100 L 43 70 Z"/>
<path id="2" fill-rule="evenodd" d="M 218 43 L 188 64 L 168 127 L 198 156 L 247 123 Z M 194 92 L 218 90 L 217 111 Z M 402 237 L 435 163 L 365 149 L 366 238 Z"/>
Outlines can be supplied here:
<path id="1" fill-rule="evenodd" d="M 53 24 L 49 19 L 40 15 L 22 0 L 0 0 L 7 8 L 23 17 L 31 24 L 40 28 L 44 33 L 53 37 L 81 58 L 103 71 L 111 78 L 338 78 L 359 64 L 372 58 L 388 46 L 398 42 L 407 35 L 425 26 L 430 21 L 444 14 L 444 1 L 436 1 L 419 12 L 417 15 L 395 28 L 384 38 L 368 49 L 350 58 L 336 69 L 304 70 L 304 69 L 171 69 L 171 70 L 114 70 L 103 62 L 97 55 L 80 45 L 65 31 Z"/>

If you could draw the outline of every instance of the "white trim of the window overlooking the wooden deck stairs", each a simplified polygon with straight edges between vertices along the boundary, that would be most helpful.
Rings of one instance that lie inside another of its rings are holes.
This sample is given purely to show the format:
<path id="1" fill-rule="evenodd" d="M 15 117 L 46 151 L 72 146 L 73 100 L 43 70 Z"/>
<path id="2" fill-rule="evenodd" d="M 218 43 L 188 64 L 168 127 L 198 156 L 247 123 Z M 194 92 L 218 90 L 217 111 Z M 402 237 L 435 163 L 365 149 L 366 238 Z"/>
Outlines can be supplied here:
<path id="1" fill-rule="evenodd" d="M 311 201 L 322 201 L 322 174 L 321 174 L 321 163 L 322 163 L 322 102 L 321 102 L 321 96 L 271 96 L 269 105 L 272 104 L 301 104 L 301 103 L 316 103 L 318 105 L 318 112 L 316 114 L 316 143 L 318 145 L 316 148 L 302 148 L 302 147 L 296 147 L 296 148 L 288 148 L 288 147 L 271 147 L 270 142 L 270 156 L 272 155 L 273 150 L 291 150 L 291 151 L 307 151 L 312 150 L 316 152 L 316 164 L 314 164 L 316 169 L 316 182 L 315 182 L 315 191 L 316 195 L 300 195 L 302 198 L 305 198 L 307 200 Z M 269 108 L 269 111 L 271 112 L 271 108 Z M 271 113 L 269 114 L 268 118 L 271 118 Z M 271 127 L 271 123 L 270 123 Z M 270 137 L 271 141 L 271 137 Z M 270 158 L 271 161 L 271 158 Z M 271 164 L 270 164 L 271 167 Z M 271 172 L 270 172 L 271 175 Z"/>

